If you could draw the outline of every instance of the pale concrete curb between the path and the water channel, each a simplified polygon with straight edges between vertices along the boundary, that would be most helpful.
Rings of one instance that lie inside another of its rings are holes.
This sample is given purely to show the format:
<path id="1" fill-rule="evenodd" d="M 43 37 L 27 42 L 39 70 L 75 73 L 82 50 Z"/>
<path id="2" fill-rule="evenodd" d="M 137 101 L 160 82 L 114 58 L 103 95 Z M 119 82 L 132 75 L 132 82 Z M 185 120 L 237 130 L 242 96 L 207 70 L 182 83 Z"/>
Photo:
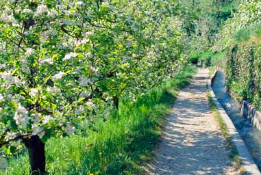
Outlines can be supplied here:
<path id="1" fill-rule="evenodd" d="M 234 126 L 232 120 L 230 120 L 229 116 L 227 116 L 225 109 L 223 109 L 223 107 L 219 103 L 219 100 L 217 100 L 217 98 L 213 92 L 212 82 L 215 77 L 216 77 L 216 70 L 215 70 L 214 74 L 210 77 L 210 79 L 208 79 L 208 90 L 210 90 L 210 94 L 214 100 L 214 103 L 215 103 L 217 109 L 219 109 L 219 112 L 221 113 L 221 117 L 223 118 L 225 124 L 227 125 L 229 135 L 232 139 L 232 142 L 236 146 L 236 149 L 238 150 L 238 154 L 245 167 L 245 170 L 247 171 L 247 174 L 261 175 L 260 171 L 258 170 L 258 166 L 253 161 L 253 158 L 252 158 L 251 154 L 249 153 L 249 151 L 247 150 L 247 147 L 245 146 L 243 139 L 240 137 L 238 131 L 236 131 L 236 127 Z"/>

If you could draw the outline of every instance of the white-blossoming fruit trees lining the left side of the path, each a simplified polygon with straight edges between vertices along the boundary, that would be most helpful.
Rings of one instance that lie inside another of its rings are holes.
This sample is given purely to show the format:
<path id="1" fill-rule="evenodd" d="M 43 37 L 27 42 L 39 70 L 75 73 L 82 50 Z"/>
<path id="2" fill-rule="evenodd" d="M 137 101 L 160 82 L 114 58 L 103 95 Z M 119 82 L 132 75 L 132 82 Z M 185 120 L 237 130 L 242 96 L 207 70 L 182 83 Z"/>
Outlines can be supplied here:
<path id="1" fill-rule="evenodd" d="M 32 174 L 45 174 L 47 139 L 173 77 L 185 62 L 178 4 L 2 0 L 1 149 L 24 144 Z"/>

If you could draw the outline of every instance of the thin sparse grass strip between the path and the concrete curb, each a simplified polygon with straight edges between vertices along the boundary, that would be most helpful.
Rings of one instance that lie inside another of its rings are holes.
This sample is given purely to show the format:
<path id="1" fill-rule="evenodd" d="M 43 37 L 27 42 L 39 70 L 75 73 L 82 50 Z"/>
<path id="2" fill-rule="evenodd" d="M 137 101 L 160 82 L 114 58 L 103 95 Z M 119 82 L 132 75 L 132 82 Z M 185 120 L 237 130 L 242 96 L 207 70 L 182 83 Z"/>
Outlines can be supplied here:
<path id="1" fill-rule="evenodd" d="M 219 110 L 216 108 L 216 105 L 210 93 L 208 93 L 208 102 L 210 103 L 210 108 L 212 110 L 212 114 L 214 118 L 219 123 L 221 135 L 225 138 L 225 141 L 227 143 L 227 148 L 231 150 L 229 156 L 233 159 L 233 164 L 236 167 L 236 170 L 238 170 L 239 174 L 245 174 L 245 168 L 243 167 L 243 163 L 240 160 L 238 150 L 236 150 L 236 146 L 233 144 L 232 139 L 229 136 L 227 125 L 225 124 L 223 118 L 221 117 Z"/>

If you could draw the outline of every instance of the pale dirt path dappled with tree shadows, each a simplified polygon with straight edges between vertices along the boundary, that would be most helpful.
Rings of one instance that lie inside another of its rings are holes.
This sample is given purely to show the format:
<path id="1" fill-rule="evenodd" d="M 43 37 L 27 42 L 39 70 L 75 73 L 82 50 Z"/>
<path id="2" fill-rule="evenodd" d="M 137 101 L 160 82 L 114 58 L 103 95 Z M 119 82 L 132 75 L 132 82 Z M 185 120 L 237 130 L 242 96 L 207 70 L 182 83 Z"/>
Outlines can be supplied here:
<path id="1" fill-rule="evenodd" d="M 147 174 L 238 174 L 206 98 L 208 69 L 179 92 Z"/>

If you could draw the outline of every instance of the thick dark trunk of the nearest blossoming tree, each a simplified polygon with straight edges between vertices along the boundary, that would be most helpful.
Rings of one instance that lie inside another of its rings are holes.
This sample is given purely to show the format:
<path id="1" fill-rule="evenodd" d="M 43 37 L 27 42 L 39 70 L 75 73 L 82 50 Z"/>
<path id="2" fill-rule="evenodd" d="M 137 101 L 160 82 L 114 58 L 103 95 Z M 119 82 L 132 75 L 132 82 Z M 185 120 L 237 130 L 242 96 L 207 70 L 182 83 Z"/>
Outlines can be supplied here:
<path id="1" fill-rule="evenodd" d="M 31 175 L 45 174 L 45 144 L 38 135 L 33 135 L 24 142 L 29 154 Z"/>

